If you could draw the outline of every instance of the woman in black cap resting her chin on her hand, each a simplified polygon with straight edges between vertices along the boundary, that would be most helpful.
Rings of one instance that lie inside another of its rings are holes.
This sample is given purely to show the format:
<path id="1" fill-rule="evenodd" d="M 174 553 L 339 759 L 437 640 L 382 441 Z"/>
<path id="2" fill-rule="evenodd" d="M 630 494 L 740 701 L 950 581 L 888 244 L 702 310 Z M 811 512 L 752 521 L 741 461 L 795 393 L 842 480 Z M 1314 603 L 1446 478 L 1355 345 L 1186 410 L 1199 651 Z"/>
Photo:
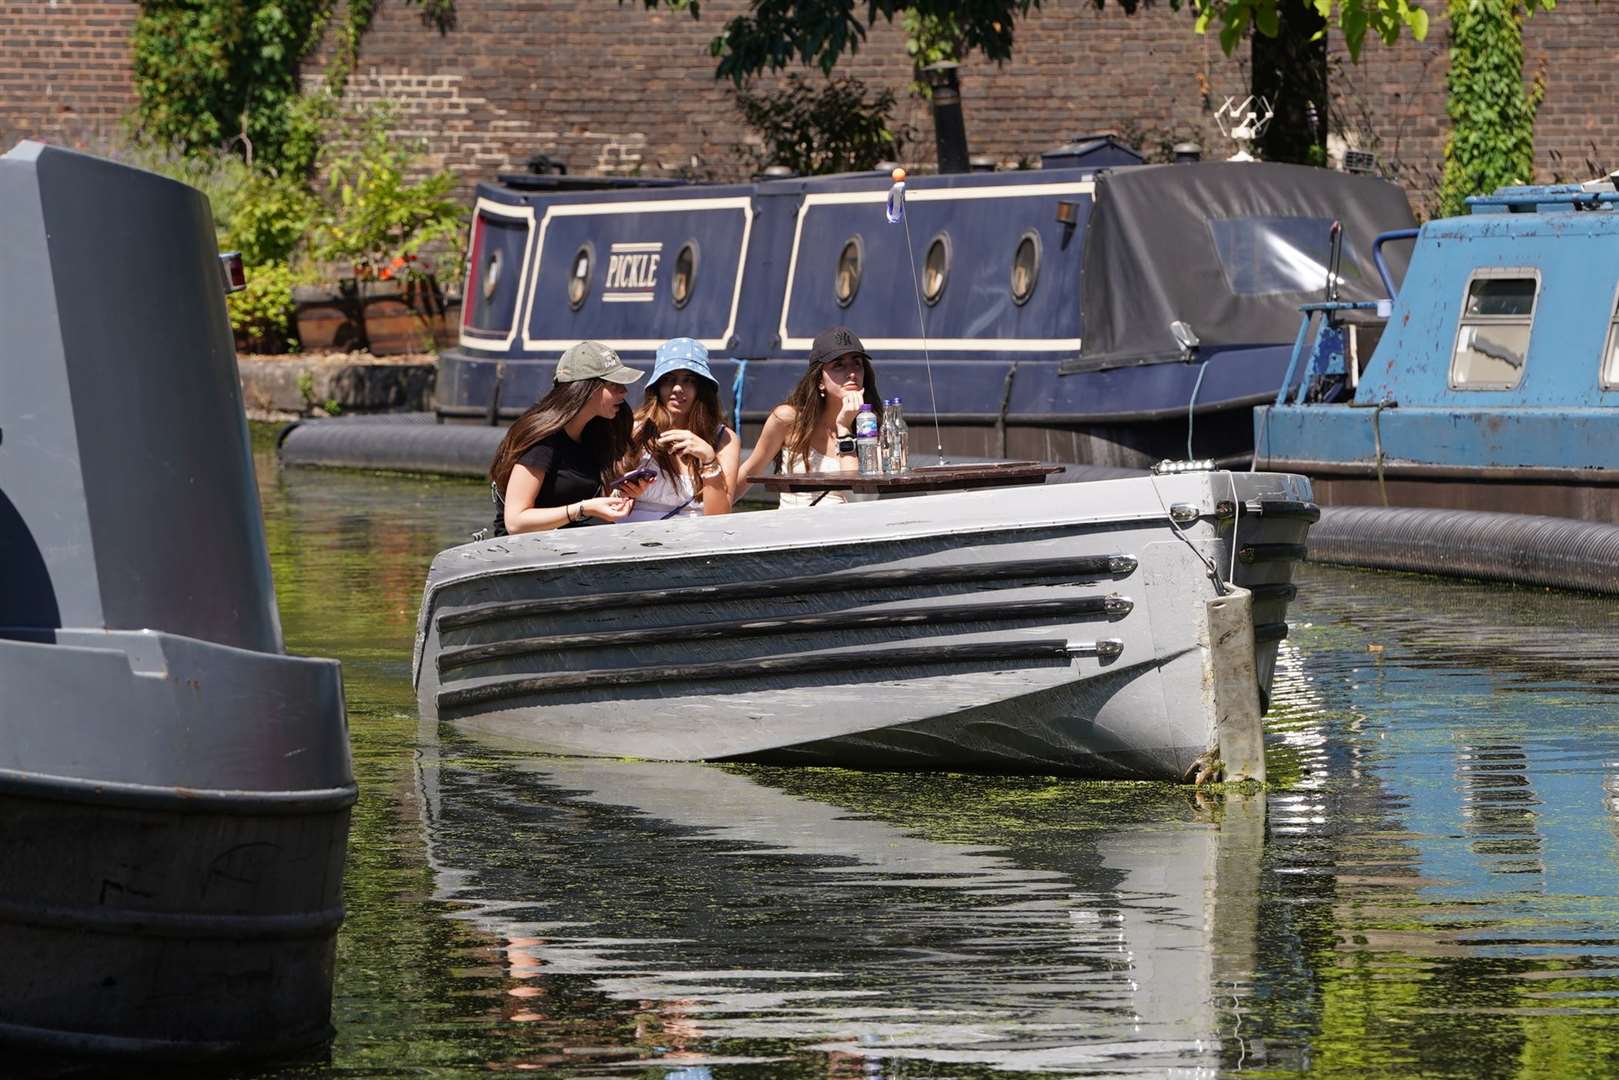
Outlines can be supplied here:
<path id="1" fill-rule="evenodd" d="M 848 327 L 822 330 L 810 348 L 810 371 L 771 410 L 742 474 L 754 476 L 771 463 L 782 473 L 858 473 L 855 413 L 861 405 L 869 405 L 882 421 L 871 356 Z M 784 491 L 782 508 L 835 505 L 848 502 L 850 494 Z"/>

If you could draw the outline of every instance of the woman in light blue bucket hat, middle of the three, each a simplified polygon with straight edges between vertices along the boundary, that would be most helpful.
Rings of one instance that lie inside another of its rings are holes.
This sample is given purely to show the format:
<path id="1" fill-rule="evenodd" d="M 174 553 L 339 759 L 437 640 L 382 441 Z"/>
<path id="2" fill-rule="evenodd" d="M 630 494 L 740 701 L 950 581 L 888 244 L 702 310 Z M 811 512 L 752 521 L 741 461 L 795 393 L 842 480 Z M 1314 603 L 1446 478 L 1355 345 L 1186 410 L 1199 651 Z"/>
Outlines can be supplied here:
<path id="1" fill-rule="evenodd" d="M 730 513 L 742 440 L 724 416 L 708 348 L 690 337 L 659 345 L 646 400 L 635 411 L 636 449 L 657 476 L 628 521 Z"/>

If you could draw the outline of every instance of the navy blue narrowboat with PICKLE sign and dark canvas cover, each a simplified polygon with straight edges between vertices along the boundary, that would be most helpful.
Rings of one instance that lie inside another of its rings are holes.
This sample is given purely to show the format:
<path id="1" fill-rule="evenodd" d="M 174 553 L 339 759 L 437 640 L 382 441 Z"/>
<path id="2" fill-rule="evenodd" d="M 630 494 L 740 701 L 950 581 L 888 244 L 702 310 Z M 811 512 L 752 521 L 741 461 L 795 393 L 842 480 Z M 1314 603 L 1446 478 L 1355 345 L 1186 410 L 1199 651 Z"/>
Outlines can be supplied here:
<path id="1" fill-rule="evenodd" d="M 439 415 L 516 416 L 581 338 L 635 364 L 688 335 L 758 424 L 816 332 L 845 324 L 874 353 L 881 392 L 924 418 L 918 460 L 936 406 L 957 455 L 1247 463 L 1250 410 L 1276 395 L 1334 238 L 1350 253 L 1341 295 L 1370 301 L 1383 290 L 1363 253 L 1413 223 L 1404 193 L 1371 176 L 1138 165 L 1111 141 L 1065 160 L 915 178 L 900 225 L 876 172 L 481 185 Z"/>

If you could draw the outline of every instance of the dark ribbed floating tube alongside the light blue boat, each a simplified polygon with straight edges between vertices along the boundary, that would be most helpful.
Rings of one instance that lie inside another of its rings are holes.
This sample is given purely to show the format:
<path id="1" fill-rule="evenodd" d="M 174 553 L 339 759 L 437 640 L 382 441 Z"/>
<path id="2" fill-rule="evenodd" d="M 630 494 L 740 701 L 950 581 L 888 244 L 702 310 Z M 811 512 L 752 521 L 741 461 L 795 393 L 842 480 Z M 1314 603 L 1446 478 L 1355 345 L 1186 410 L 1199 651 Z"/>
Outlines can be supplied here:
<path id="1" fill-rule="evenodd" d="M 1323 507 L 1310 560 L 1619 594 L 1619 525 L 1530 513 Z"/>

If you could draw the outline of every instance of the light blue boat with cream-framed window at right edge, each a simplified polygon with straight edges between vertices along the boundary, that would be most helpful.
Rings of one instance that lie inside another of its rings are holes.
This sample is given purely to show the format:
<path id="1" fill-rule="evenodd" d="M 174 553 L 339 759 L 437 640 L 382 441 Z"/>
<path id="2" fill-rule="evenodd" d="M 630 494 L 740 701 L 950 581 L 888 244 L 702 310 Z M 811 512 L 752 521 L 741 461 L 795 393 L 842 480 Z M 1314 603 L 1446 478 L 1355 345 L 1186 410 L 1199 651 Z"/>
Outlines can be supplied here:
<path id="1" fill-rule="evenodd" d="M 1502 188 L 1379 236 L 1415 240 L 1404 283 L 1303 306 L 1255 468 L 1311 476 L 1328 505 L 1619 523 L 1616 180 Z"/>

